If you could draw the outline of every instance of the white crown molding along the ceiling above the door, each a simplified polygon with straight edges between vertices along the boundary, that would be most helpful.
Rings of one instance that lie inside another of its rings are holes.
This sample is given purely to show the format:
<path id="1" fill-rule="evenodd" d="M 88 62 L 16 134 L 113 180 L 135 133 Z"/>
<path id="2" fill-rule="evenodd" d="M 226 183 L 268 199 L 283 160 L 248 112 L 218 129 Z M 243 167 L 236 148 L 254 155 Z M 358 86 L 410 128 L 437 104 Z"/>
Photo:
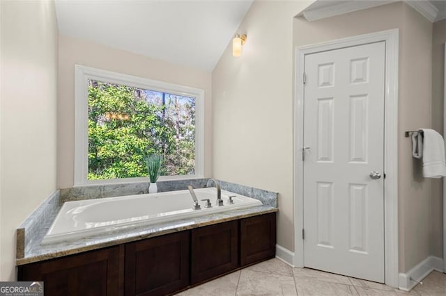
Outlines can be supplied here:
<path id="1" fill-rule="evenodd" d="M 312 9 L 311 6 L 304 10 L 301 15 L 307 19 L 307 21 L 312 22 L 317 19 L 325 19 L 325 17 L 334 17 L 335 15 L 343 15 L 344 13 L 353 13 L 358 10 L 363 10 L 367 8 L 372 8 L 376 6 L 381 6 L 398 0 L 381 0 L 381 1 L 348 1 L 346 3 L 335 4 L 332 6 L 324 6 L 321 8 Z M 431 22 L 439 21 L 440 19 L 446 18 L 446 11 L 438 11 L 438 9 L 433 6 L 427 0 L 403 0 L 408 3 L 409 6 L 417 10 L 418 13 L 429 19 Z"/>

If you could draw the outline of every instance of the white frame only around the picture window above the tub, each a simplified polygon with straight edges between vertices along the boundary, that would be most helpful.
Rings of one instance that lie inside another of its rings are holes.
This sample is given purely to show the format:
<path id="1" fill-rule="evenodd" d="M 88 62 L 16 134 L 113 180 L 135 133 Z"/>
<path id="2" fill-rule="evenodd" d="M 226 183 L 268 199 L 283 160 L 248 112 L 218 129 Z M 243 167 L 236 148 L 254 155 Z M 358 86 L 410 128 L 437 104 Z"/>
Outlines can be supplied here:
<path id="1" fill-rule="evenodd" d="M 89 87 L 88 81 L 128 85 L 195 98 L 195 174 L 160 176 L 159 181 L 203 178 L 204 169 L 204 90 L 75 65 L 75 186 L 148 181 L 148 177 L 89 180 Z"/>

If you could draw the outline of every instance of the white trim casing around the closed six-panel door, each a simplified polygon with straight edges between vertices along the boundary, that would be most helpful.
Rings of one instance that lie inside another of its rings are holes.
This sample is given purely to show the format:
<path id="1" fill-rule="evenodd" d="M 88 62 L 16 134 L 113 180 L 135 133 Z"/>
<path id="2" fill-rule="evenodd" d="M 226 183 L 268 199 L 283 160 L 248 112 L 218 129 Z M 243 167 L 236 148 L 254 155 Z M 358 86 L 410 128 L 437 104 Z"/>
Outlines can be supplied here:
<path id="1" fill-rule="evenodd" d="M 398 287 L 398 58 L 399 30 L 357 35 L 319 44 L 298 47 L 295 51 L 294 102 L 294 262 L 304 267 L 303 163 L 305 55 L 320 51 L 353 47 L 371 42 L 385 42 L 385 117 L 384 117 L 384 256 L 385 284 Z"/>

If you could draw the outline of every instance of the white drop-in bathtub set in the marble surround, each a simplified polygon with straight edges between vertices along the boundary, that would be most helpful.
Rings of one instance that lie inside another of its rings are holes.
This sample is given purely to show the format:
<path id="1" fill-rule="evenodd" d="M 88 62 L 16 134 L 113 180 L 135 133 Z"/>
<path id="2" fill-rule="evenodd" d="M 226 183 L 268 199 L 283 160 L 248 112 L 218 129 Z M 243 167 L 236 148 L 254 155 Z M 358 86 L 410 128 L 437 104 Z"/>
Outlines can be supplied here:
<path id="1" fill-rule="evenodd" d="M 194 202 L 189 190 L 66 202 L 41 243 L 75 240 L 107 231 L 262 205 L 257 199 L 222 190 L 224 206 L 215 206 L 215 188 L 200 188 L 194 191 L 200 201 L 201 210 L 192 209 Z M 234 203 L 228 204 L 231 195 L 235 195 Z M 205 202 L 201 199 L 210 199 L 213 207 L 205 208 Z"/>

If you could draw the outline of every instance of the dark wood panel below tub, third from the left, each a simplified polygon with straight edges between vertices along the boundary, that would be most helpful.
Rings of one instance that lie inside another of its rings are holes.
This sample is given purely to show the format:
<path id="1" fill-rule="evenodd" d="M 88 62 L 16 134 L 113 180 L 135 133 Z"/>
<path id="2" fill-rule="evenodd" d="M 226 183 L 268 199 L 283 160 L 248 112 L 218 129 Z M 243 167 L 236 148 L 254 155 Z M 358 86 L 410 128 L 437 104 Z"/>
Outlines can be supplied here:
<path id="1" fill-rule="evenodd" d="M 238 221 L 192 230 L 191 284 L 238 268 Z"/>

